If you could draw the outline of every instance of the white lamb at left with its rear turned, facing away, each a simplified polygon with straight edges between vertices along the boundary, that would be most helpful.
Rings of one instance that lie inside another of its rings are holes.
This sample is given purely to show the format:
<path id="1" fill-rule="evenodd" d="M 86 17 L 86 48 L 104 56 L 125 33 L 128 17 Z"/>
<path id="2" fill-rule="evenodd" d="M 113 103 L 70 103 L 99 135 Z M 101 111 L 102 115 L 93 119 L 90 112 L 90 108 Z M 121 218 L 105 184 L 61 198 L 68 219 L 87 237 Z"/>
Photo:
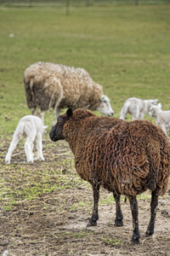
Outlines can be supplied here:
<path id="1" fill-rule="evenodd" d="M 10 164 L 11 155 L 14 149 L 20 142 L 21 137 L 26 137 L 25 152 L 26 160 L 28 163 L 33 163 L 33 143 L 36 141 L 37 144 L 37 158 L 35 160 L 44 160 L 42 154 L 42 132 L 47 126 L 43 126 L 42 119 L 34 115 L 26 115 L 20 119 L 16 130 L 14 131 L 13 140 L 9 145 L 8 153 L 5 157 L 6 165 Z"/>

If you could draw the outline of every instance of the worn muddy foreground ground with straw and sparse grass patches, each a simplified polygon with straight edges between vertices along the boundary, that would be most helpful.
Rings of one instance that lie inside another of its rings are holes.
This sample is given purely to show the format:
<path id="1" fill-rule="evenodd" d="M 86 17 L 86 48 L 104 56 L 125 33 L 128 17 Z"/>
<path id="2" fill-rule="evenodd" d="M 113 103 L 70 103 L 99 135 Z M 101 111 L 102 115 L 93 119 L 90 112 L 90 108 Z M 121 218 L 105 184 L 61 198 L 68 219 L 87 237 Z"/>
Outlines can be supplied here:
<path id="1" fill-rule="evenodd" d="M 139 245 L 133 245 L 129 202 L 122 200 L 124 225 L 115 227 L 115 201 L 104 189 L 100 193 L 98 225 L 86 227 L 93 207 L 92 189 L 77 177 L 65 142 L 58 147 L 45 137 L 46 161 L 34 165 L 21 163 L 26 160 L 21 143 L 13 163 L 5 166 L 8 143 L 1 141 L 0 253 L 7 249 L 9 255 L 17 256 L 170 255 L 168 193 L 159 199 L 155 235 L 150 238 L 144 236 L 150 219 L 150 193 L 139 198 L 141 239 Z"/>

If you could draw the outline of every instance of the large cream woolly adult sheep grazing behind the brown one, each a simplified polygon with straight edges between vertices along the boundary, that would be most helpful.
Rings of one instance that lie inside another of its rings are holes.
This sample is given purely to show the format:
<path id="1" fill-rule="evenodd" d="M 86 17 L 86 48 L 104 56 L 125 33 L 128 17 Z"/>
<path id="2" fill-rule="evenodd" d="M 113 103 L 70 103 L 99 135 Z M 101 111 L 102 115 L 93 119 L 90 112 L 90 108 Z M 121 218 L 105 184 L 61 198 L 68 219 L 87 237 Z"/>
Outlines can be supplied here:
<path id="1" fill-rule="evenodd" d="M 54 108 L 56 123 L 61 108 L 82 108 L 89 104 L 91 110 L 113 115 L 110 99 L 103 94 L 102 86 L 94 83 L 83 68 L 67 67 L 61 64 L 38 62 L 26 68 L 24 73 L 26 102 L 32 113 L 40 108 L 44 113 Z"/>

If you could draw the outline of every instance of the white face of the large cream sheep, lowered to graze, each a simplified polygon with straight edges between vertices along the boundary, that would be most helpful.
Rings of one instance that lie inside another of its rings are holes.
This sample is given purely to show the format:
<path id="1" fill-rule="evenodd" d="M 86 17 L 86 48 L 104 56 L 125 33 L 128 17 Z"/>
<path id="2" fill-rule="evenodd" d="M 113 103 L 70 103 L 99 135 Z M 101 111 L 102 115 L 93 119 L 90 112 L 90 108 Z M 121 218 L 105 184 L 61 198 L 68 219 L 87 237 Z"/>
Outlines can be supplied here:
<path id="1" fill-rule="evenodd" d="M 108 96 L 102 95 L 99 98 L 99 106 L 97 110 L 105 115 L 112 116 L 114 114 L 111 108 L 111 102 Z"/>

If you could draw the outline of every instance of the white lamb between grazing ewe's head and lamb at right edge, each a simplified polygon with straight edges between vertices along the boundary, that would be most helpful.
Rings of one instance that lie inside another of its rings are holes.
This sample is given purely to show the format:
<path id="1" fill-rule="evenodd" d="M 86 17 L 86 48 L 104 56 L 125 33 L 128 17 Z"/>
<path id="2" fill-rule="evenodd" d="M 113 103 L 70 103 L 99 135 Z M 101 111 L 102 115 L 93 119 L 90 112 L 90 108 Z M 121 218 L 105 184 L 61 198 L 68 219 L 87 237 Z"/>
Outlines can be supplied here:
<path id="1" fill-rule="evenodd" d="M 148 113 L 151 104 L 156 105 L 158 100 L 141 100 L 139 98 L 128 98 L 122 107 L 120 119 L 125 119 L 127 113 L 132 114 L 133 120 L 144 119 L 144 114 Z"/>

